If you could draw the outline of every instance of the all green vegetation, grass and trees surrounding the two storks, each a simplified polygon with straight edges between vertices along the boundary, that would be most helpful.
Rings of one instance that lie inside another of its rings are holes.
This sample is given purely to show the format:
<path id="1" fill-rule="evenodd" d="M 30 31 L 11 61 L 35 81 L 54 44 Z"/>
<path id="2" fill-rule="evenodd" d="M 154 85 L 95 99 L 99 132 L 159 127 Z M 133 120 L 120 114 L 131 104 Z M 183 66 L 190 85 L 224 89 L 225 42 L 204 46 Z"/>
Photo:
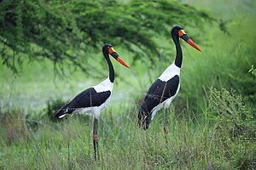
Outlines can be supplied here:
<path id="1" fill-rule="evenodd" d="M 2 1 L 1 169 L 255 169 L 255 2 Z M 182 84 L 163 133 L 137 111 L 149 85 L 174 59 L 172 26 L 203 53 L 183 48 Z M 113 98 L 99 123 L 55 111 L 108 76 L 102 44 L 131 65 L 113 65 Z M 124 90 L 125 89 L 125 90 Z"/>

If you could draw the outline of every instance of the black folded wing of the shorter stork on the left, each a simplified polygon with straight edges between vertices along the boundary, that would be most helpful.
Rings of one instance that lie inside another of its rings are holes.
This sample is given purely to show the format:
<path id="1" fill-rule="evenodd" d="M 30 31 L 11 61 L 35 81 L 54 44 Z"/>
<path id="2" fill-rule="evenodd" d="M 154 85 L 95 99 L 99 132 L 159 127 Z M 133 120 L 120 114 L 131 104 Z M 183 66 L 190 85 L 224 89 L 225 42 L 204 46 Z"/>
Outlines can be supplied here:
<path id="1" fill-rule="evenodd" d="M 61 107 L 55 117 L 72 113 L 76 109 L 102 105 L 110 96 L 111 92 L 97 93 L 94 88 L 88 88 L 74 97 L 67 105 Z"/>

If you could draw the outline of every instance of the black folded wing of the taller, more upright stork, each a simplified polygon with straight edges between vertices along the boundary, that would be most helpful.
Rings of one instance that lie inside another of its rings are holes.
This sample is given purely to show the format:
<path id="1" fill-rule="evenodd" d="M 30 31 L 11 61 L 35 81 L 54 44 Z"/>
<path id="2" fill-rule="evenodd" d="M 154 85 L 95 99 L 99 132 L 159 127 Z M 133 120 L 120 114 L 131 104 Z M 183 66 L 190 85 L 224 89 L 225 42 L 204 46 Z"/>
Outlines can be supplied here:
<path id="1" fill-rule="evenodd" d="M 157 79 L 148 89 L 141 110 L 148 115 L 156 105 L 159 105 L 177 93 L 178 84 L 179 77 L 177 75 L 167 82 Z"/>

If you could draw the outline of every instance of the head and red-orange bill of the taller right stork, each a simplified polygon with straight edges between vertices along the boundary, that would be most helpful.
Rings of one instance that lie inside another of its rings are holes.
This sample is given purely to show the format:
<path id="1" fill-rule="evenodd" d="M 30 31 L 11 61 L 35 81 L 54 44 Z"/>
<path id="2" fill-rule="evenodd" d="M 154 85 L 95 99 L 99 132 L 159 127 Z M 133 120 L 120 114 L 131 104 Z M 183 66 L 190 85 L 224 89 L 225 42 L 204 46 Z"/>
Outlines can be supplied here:
<path id="1" fill-rule="evenodd" d="M 197 49 L 198 51 L 201 51 L 200 48 L 198 48 L 195 45 L 195 42 L 193 42 L 189 36 L 186 34 L 186 32 L 183 30 L 182 26 L 174 26 L 171 31 L 172 37 L 179 37 L 182 38 L 185 42 L 189 43 L 190 46 Z"/>

